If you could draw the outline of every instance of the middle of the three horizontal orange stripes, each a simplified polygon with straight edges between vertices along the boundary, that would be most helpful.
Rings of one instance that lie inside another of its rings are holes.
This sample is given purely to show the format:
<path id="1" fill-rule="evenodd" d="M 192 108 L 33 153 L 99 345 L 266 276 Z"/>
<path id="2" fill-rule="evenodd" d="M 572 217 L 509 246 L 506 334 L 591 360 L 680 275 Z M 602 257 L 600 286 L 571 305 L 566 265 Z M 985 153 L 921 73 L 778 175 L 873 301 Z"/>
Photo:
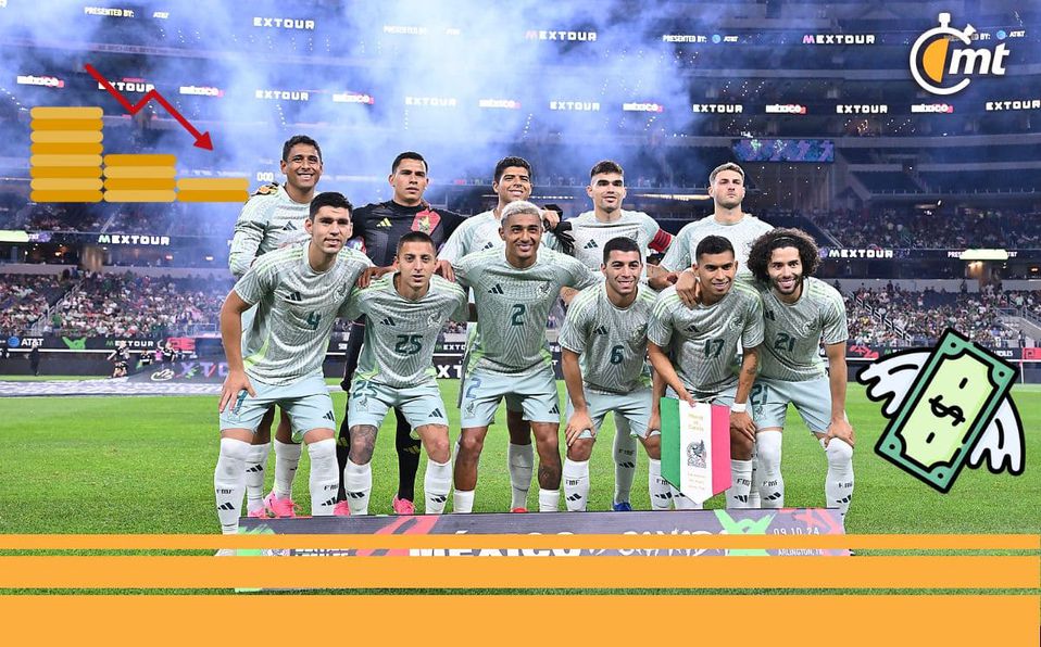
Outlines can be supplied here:
<path id="1" fill-rule="evenodd" d="M 348 587 L 1037 589 L 1041 587 L 1041 558 L 0 557 L 0 588 Z"/>

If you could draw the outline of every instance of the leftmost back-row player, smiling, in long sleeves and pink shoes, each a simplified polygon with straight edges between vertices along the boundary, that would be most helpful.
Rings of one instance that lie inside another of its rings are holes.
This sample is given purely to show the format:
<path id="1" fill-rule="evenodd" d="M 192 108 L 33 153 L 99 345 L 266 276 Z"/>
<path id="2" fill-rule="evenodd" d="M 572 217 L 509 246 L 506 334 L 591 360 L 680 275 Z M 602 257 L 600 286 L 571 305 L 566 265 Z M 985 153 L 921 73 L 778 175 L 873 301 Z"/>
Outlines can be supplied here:
<path id="1" fill-rule="evenodd" d="M 286 183 L 275 182 L 261 187 L 242 206 L 228 264 L 231 275 L 239 279 L 253 262 L 277 249 L 298 243 L 308 238 L 303 223 L 308 218 L 314 188 L 322 177 L 322 149 L 318 142 L 306 135 L 290 137 L 281 147 L 281 173 Z M 249 326 L 252 313 L 246 314 Z M 246 469 L 246 506 L 250 516 L 292 517 L 292 478 L 300 464 L 300 445 L 292 442 L 289 418 L 281 413 L 275 432 L 275 482 L 271 493 L 264 496 L 264 469 L 271 453 L 271 426 L 275 419 L 272 407 L 261 421 L 252 437 Z"/>

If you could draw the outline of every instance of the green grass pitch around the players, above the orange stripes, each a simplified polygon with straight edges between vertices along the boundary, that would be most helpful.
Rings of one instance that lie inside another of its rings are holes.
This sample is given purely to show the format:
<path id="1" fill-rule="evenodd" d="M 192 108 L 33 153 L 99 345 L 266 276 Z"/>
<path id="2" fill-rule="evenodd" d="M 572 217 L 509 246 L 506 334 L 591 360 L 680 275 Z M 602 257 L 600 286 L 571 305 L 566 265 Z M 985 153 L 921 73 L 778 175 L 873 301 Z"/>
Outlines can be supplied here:
<path id="1" fill-rule="evenodd" d="M 441 381 L 447 403 L 457 382 Z M 563 385 L 561 385 L 563 396 Z M 875 455 L 885 428 L 879 405 L 850 385 L 849 416 L 856 430 L 856 490 L 846 520 L 851 533 L 1039 533 L 1041 389 L 1017 386 L 1013 396 L 1027 440 L 1027 468 L 1019 477 L 965 469 L 940 494 Z M 344 394 L 334 393 L 337 416 Z M 213 467 L 217 418 L 212 397 L 24 397 L 0 399 L 0 532 L 2 533 L 215 533 Z M 563 402 L 563 399 L 562 399 Z M 451 433 L 459 411 L 449 407 Z M 373 459 L 373 513 L 389 513 L 398 482 L 393 418 L 380 429 Z M 481 457 L 475 511 L 504 511 L 510 504 L 506 433 L 489 432 Z M 614 466 L 609 422 L 591 460 L 589 508 L 610 508 Z M 422 502 L 423 459 L 417 484 Z M 271 486 L 273 459 L 267 485 Z M 823 506 L 824 453 L 794 411 L 785 433 L 782 471 L 790 506 Z M 304 453 L 293 497 L 310 508 Z M 537 487 L 528 499 L 537 509 Z M 640 451 L 632 504 L 648 509 L 647 456 Z M 451 503 L 449 504 L 451 509 Z M 708 507 L 722 507 L 722 497 Z M 421 503 L 422 510 L 422 503 Z"/>

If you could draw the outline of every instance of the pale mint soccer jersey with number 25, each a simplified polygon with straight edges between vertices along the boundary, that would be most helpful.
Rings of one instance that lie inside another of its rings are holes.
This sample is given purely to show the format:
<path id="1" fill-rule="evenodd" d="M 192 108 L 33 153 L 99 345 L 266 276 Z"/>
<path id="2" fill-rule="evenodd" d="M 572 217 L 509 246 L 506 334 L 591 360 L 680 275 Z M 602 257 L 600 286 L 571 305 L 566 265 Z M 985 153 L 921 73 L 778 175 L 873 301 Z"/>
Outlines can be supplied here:
<path id="1" fill-rule="evenodd" d="M 394 277 L 385 275 L 364 290 L 355 289 L 347 318 L 367 317 L 358 359 L 359 379 L 403 389 L 435 378 L 434 348 L 449 319 L 466 321 L 469 306 L 462 288 L 439 276 L 417 301 L 398 293 Z"/>

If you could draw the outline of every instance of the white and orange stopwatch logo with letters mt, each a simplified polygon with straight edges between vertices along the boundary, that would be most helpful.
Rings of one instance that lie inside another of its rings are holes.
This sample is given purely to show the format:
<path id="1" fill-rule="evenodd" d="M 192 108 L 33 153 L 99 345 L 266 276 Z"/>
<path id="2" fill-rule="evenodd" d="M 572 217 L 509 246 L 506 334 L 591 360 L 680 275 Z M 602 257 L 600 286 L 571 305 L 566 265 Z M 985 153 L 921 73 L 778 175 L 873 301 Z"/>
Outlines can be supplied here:
<path id="1" fill-rule="evenodd" d="M 1005 43 L 995 47 L 993 52 L 973 47 L 971 36 L 976 34 L 973 25 L 966 24 L 961 31 L 954 29 L 950 27 L 949 13 L 941 13 L 939 23 L 939 27 L 919 36 L 911 48 L 911 75 L 924 90 L 933 94 L 954 94 L 968 86 L 969 76 L 1005 75 L 1004 63 L 1008 55 Z M 965 47 L 957 47 L 958 42 Z"/>

